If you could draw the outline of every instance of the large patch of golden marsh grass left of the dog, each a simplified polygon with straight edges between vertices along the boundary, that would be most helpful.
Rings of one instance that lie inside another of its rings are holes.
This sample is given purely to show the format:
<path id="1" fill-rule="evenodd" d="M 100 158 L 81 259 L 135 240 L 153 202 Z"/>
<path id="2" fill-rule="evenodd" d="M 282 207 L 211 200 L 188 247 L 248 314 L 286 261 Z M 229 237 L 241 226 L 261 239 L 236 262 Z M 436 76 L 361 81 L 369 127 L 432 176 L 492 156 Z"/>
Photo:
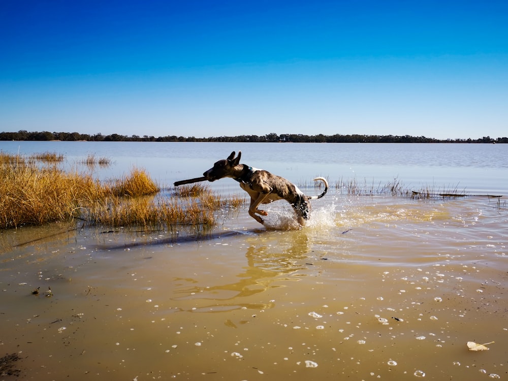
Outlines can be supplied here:
<path id="1" fill-rule="evenodd" d="M 76 218 L 84 226 L 202 233 L 215 226 L 219 212 L 245 202 L 237 196 L 222 199 L 202 184 L 182 187 L 171 197 L 159 191 L 142 169 L 101 182 L 77 170 L 40 167 L 24 156 L 0 152 L 0 229 Z"/>

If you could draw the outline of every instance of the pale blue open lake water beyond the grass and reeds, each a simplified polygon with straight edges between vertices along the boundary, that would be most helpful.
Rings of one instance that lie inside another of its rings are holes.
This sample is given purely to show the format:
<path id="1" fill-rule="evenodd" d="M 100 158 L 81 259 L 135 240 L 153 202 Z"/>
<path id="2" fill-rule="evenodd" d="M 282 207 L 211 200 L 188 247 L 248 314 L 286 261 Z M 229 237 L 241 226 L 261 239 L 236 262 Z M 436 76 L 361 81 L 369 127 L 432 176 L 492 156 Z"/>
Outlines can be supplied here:
<path id="1" fill-rule="evenodd" d="M 0 150 L 21 154 L 61 152 L 69 166 L 94 154 L 115 162 L 99 176 L 118 176 L 137 166 L 169 185 L 199 177 L 219 158 L 240 150 L 242 163 L 294 182 L 309 181 L 316 175 L 326 176 L 331 182 L 356 178 L 375 184 L 397 178 L 416 189 L 424 185 L 458 187 L 469 194 L 505 195 L 508 191 L 505 144 L 0 142 Z M 237 188 L 238 184 L 228 181 L 213 186 Z"/>

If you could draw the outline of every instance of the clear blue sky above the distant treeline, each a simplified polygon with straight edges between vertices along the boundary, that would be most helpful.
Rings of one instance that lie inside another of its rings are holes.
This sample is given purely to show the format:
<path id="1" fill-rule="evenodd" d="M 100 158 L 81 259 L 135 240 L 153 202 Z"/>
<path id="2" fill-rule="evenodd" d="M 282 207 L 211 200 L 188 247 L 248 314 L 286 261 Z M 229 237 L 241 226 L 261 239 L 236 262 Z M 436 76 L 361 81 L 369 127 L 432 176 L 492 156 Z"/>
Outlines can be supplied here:
<path id="1" fill-rule="evenodd" d="M 0 3 L 0 131 L 508 136 L 508 2 Z"/>

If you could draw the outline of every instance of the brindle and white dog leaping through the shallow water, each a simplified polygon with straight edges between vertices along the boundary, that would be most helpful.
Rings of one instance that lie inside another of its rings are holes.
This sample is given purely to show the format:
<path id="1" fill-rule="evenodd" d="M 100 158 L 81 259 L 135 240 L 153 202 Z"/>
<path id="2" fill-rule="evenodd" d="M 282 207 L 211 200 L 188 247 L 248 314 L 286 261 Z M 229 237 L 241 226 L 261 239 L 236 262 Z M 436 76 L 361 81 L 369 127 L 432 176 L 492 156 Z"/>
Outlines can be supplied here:
<path id="1" fill-rule="evenodd" d="M 264 223 L 260 217 L 268 215 L 264 210 L 258 209 L 260 204 L 269 204 L 272 201 L 286 200 L 296 212 L 298 224 L 305 226 L 305 220 L 309 218 L 309 200 L 320 199 L 328 192 L 328 181 L 324 177 L 316 177 L 314 181 L 323 181 L 325 190 L 319 196 L 306 196 L 298 187 L 283 177 L 274 175 L 262 169 L 252 168 L 246 164 L 240 164 L 241 151 L 235 157 L 235 151 L 225 160 L 219 160 L 212 168 L 203 173 L 208 181 L 215 181 L 225 177 L 232 177 L 240 183 L 240 187 L 250 196 L 249 215 Z M 259 214 L 259 215 L 258 215 Z"/>

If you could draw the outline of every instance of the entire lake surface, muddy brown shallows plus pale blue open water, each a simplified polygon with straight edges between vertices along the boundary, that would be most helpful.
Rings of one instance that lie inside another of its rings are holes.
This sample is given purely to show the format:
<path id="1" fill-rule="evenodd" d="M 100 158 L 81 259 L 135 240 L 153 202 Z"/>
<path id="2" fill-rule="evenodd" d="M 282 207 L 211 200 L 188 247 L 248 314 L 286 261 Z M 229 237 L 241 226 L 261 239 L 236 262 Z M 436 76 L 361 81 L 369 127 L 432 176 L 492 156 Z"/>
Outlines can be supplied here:
<path id="1" fill-rule="evenodd" d="M 451 200 L 351 196 L 331 186 L 309 224 L 287 203 L 266 229 L 245 208 L 211 237 L 75 230 L 0 235 L 0 344 L 22 379 L 506 378 L 506 145 L 0 142 L 58 151 L 72 167 L 112 158 L 161 184 L 200 176 L 232 150 L 295 182 L 316 175 L 418 189 Z M 212 183 L 238 193 L 231 179 Z M 313 188 L 306 192 L 313 193 Z M 41 287 L 39 295 L 31 291 Z M 51 287 L 53 296 L 43 291 Z M 489 344 L 472 352 L 466 343 Z M 2 379 L 9 379 L 2 376 Z"/>

